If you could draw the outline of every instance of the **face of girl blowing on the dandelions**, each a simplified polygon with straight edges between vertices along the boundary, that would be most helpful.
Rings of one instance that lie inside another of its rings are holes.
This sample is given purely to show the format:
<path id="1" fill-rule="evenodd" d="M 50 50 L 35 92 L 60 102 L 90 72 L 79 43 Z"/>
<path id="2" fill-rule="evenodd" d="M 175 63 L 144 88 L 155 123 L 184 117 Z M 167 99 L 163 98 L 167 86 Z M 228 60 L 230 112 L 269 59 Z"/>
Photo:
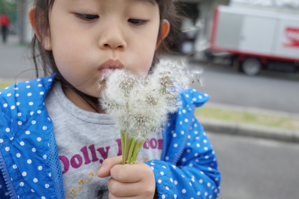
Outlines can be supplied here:
<path id="1" fill-rule="evenodd" d="M 154 0 L 56 0 L 49 23 L 45 48 L 62 76 L 93 97 L 100 95 L 96 82 L 103 67 L 147 72 L 159 43 Z"/>

